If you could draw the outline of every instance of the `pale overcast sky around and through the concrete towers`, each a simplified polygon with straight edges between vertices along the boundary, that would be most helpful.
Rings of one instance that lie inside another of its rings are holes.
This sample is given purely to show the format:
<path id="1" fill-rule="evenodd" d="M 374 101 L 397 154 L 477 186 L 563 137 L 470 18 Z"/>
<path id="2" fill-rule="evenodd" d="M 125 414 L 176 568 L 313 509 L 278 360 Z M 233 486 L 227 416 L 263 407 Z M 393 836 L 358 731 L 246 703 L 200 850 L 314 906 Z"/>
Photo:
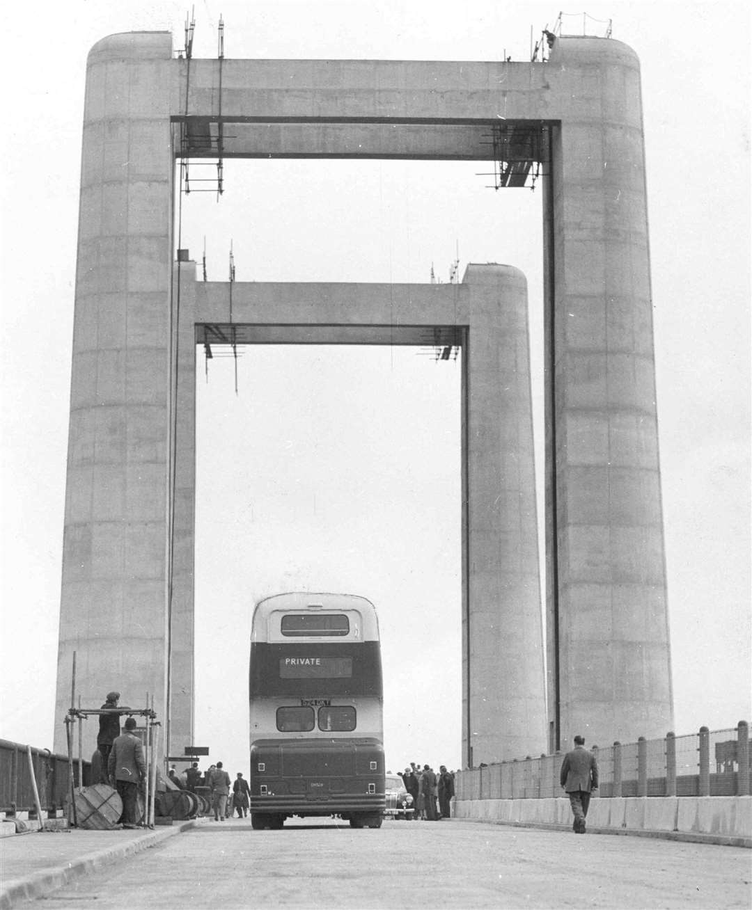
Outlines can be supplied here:
<path id="1" fill-rule="evenodd" d="M 593 4 L 640 56 L 676 733 L 750 713 L 749 73 L 746 5 Z M 514 60 L 539 3 L 196 4 L 194 56 Z M 4 20 L 0 737 L 52 743 L 86 54 L 186 5 L 31 0 Z M 574 10 L 574 12 L 578 12 Z M 564 19 L 564 34 L 582 18 Z M 591 22 L 589 31 L 603 34 Z M 741 35 L 744 41 L 739 40 Z M 540 193 L 487 167 L 230 162 L 182 245 L 224 280 L 447 280 L 522 268 L 541 369 Z M 360 593 L 381 615 L 387 762 L 460 763 L 459 362 L 416 350 L 248 349 L 199 360 L 196 739 L 248 768 L 253 602 Z M 534 399 L 542 438 L 542 383 Z M 538 446 L 540 452 L 540 445 Z M 117 680 L 103 683 L 117 687 Z M 134 703 L 140 693 L 123 693 Z M 236 767 L 237 765 L 237 767 Z"/>

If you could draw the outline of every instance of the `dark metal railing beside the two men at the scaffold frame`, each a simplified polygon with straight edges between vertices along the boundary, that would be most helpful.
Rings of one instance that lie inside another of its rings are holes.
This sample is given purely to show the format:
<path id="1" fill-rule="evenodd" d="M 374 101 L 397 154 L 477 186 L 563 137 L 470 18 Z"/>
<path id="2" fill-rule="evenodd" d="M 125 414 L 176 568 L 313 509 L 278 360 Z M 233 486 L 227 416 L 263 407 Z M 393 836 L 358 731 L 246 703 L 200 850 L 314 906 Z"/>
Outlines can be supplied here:
<path id="1" fill-rule="evenodd" d="M 66 805 L 70 794 L 70 763 L 66 755 L 56 755 L 48 749 L 31 750 L 34 776 L 43 811 L 56 814 Z M 91 763 L 76 762 L 74 780 L 79 785 L 90 783 Z M 15 812 L 35 812 L 34 787 L 29 767 L 28 746 L 0 739 L 0 811 L 12 816 Z"/>

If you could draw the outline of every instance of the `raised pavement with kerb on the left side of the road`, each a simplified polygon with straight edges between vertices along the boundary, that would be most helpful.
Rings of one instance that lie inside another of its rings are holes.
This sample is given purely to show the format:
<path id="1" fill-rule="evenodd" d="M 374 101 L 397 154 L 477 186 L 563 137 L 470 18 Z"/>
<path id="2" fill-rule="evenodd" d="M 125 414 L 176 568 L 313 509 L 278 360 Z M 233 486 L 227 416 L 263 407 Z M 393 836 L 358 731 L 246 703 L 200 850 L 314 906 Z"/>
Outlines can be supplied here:
<path id="1" fill-rule="evenodd" d="M 34 899 L 125 856 L 153 847 L 202 821 L 154 830 L 29 831 L 0 838 L 0 910 Z"/>

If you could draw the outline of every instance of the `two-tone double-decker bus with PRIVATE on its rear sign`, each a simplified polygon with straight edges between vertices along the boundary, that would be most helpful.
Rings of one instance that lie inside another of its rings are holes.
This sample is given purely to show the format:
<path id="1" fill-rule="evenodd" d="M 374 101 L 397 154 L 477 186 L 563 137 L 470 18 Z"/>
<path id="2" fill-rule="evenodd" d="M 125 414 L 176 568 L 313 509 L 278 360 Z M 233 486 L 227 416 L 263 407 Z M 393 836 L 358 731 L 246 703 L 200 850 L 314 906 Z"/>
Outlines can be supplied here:
<path id="1" fill-rule="evenodd" d="M 376 609 L 352 594 L 256 605 L 250 638 L 250 821 L 381 827 L 383 694 Z"/>

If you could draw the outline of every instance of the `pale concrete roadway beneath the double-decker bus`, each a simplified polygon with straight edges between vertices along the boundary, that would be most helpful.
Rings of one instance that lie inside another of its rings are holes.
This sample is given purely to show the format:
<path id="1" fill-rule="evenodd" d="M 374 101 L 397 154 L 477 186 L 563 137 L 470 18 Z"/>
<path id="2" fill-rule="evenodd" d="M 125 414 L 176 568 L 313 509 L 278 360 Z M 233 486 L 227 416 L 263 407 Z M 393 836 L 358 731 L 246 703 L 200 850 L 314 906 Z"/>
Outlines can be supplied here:
<path id="1" fill-rule="evenodd" d="M 477 822 L 206 821 L 36 903 L 65 907 L 746 907 L 752 853 Z"/>

